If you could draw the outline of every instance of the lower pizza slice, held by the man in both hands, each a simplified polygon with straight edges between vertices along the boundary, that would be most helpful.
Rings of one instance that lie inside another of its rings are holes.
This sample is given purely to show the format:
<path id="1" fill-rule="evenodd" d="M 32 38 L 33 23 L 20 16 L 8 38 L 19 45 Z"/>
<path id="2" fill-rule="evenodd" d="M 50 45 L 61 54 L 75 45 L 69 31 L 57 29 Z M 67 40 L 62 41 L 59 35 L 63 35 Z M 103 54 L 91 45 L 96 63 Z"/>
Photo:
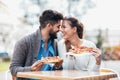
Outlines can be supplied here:
<path id="1" fill-rule="evenodd" d="M 54 57 L 43 58 L 42 62 L 44 62 L 44 63 L 56 63 L 56 62 L 60 62 L 61 60 L 63 60 L 63 59 L 60 58 L 59 56 L 54 56 Z"/>

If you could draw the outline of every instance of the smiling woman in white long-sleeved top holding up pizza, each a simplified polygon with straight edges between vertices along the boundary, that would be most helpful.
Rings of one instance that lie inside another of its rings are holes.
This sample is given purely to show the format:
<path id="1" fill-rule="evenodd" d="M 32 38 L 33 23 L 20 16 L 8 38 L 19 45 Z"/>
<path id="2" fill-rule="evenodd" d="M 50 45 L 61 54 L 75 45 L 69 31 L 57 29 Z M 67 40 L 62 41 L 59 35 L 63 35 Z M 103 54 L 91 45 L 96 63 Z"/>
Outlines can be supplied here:
<path id="1" fill-rule="evenodd" d="M 59 56 L 64 59 L 63 69 L 99 71 L 101 64 L 100 50 L 91 41 L 83 39 L 84 27 L 76 18 L 65 17 L 62 21 L 62 40 L 58 42 Z M 92 53 L 81 54 L 75 57 L 68 54 L 76 46 L 92 47 Z M 67 56 L 66 56 L 67 54 Z"/>

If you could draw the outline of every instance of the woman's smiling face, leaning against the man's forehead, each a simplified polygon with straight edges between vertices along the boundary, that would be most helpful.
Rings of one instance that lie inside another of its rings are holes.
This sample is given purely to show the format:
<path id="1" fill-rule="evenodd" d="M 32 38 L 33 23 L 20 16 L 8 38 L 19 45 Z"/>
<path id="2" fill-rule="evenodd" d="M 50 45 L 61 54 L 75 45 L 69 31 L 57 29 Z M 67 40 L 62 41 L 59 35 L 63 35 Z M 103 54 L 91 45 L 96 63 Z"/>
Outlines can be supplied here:
<path id="1" fill-rule="evenodd" d="M 61 32 L 63 33 L 63 38 L 69 40 L 76 33 L 76 27 L 71 27 L 70 21 L 63 20 L 61 26 Z"/>

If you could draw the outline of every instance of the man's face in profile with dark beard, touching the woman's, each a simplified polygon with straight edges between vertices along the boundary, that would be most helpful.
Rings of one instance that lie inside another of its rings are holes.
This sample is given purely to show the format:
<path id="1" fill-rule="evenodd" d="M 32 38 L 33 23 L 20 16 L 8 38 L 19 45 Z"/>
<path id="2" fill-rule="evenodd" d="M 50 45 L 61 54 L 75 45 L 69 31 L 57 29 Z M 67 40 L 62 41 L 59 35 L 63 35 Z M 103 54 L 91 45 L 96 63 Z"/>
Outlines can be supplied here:
<path id="1" fill-rule="evenodd" d="M 59 32 L 59 28 L 60 28 L 60 21 L 51 27 L 49 34 L 52 39 L 57 38 L 57 32 Z"/>

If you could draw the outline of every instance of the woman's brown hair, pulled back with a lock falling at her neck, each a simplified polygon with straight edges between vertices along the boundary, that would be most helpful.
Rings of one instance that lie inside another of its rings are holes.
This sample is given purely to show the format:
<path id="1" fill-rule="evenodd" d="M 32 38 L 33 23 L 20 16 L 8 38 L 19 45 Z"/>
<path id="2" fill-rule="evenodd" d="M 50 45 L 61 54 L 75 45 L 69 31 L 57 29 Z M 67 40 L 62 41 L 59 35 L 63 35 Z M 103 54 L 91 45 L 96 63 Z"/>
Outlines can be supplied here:
<path id="1" fill-rule="evenodd" d="M 73 27 L 76 27 L 77 28 L 77 34 L 78 34 L 78 37 L 80 39 L 83 38 L 83 34 L 84 34 L 84 26 L 81 22 L 78 21 L 78 19 L 74 18 L 74 17 L 65 17 L 63 20 L 67 20 L 69 21 L 69 24 L 70 26 L 73 28 Z M 67 52 L 69 51 L 69 49 L 71 49 L 71 44 L 69 41 L 65 41 L 65 45 L 66 45 L 66 50 Z"/>

